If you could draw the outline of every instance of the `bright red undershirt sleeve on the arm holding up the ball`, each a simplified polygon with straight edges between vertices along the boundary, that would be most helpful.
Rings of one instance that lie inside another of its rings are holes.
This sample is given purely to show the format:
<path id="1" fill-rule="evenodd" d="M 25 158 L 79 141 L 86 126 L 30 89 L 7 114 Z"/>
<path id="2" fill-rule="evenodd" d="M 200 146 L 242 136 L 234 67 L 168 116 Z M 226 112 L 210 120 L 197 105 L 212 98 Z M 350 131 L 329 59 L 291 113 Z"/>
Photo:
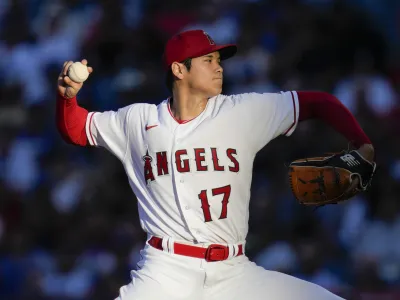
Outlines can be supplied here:
<path id="1" fill-rule="evenodd" d="M 86 118 L 88 111 L 80 107 L 76 97 L 63 98 L 57 93 L 57 129 L 67 143 L 86 146 Z"/>

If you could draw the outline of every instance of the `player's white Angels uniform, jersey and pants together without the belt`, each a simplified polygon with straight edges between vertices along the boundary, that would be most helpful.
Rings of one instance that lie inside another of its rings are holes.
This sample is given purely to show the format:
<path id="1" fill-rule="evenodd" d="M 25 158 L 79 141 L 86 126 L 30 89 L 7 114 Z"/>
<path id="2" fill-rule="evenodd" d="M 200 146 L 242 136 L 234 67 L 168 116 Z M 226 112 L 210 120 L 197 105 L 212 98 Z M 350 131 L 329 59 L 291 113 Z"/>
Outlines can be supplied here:
<path id="1" fill-rule="evenodd" d="M 277 136 L 292 134 L 298 115 L 294 91 L 218 95 L 183 124 L 174 119 L 167 99 L 158 106 L 133 104 L 117 112 L 92 112 L 86 132 L 91 145 L 108 149 L 123 163 L 149 237 L 229 246 L 246 240 L 255 155 Z M 265 271 L 244 255 L 207 263 L 147 246 L 144 261 L 145 267 L 132 273 L 132 283 L 121 289 L 122 300 L 265 299 L 258 288 L 273 286 L 287 297 L 271 299 L 293 299 L 285 280 L 322 295 L 314 285 Z M 197 287 L 206 288 L 208 281 L 221 289 L 210 289 L 202 298 L 204 291 Z M 236 290 L 240 286 L 242 292 Z M 305 295 L 296 299 L 314 299 L 309 292 Z"/>

